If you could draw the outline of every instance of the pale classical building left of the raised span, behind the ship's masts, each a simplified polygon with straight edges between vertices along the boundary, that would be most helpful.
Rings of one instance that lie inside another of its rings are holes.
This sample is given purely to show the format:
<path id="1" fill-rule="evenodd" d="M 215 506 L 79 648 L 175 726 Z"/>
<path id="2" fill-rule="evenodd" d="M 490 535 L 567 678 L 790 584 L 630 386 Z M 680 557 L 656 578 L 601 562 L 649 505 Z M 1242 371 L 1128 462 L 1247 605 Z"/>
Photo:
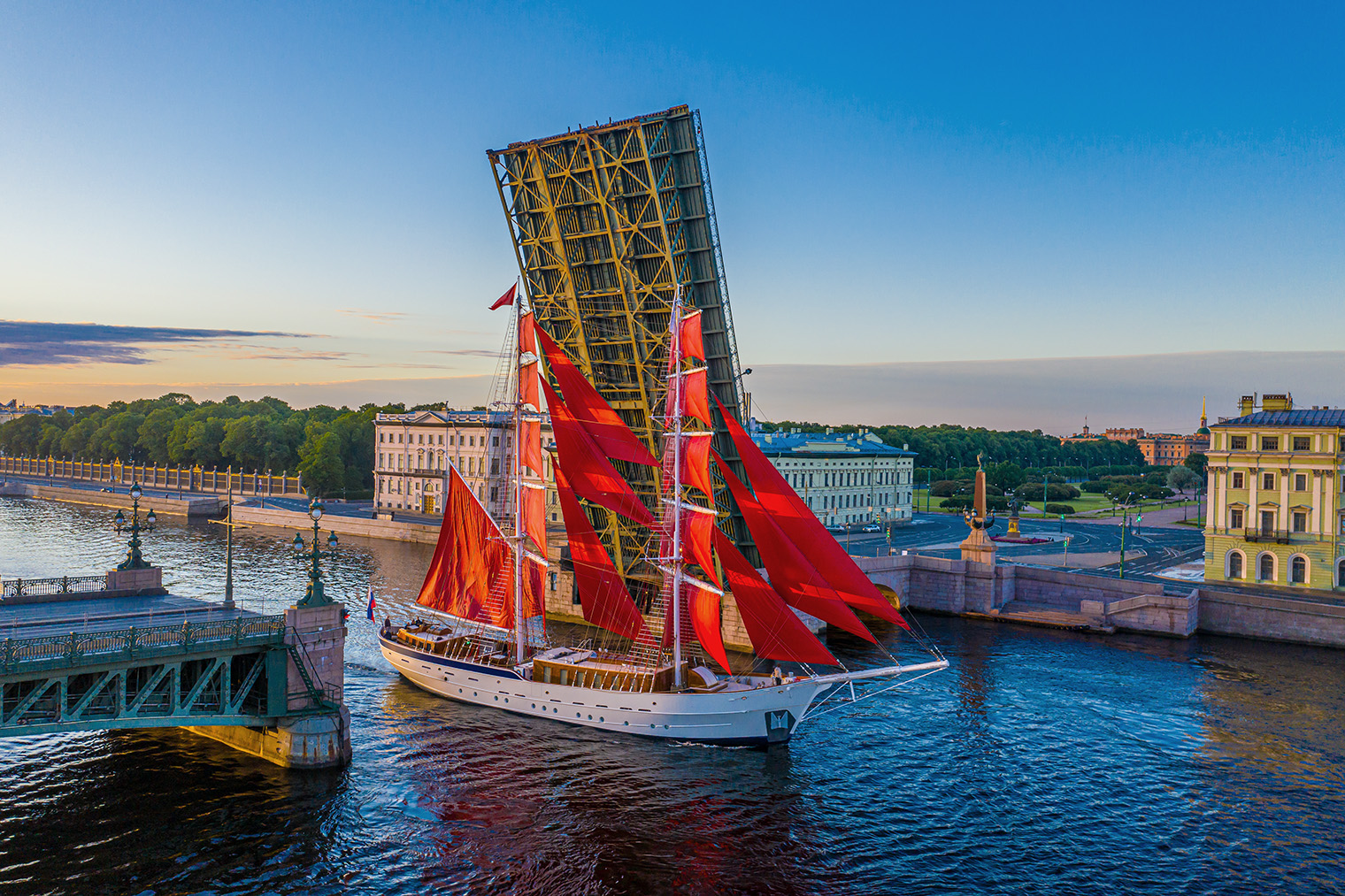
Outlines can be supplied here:
<path id="1" fill-rule="evenodd" d="M 543 447 L 551 425 L 542 422 Z M 496 519 L 510 517 L 504 500 L 514 451 L 512 417 L 484 410 L 413 410 L 374 417 L 374 506 L 382 510 L 443 513 L 449 464 L 457 467 Z M 547 514 L 558 521 L 551 456 L 546 468 Z"/>

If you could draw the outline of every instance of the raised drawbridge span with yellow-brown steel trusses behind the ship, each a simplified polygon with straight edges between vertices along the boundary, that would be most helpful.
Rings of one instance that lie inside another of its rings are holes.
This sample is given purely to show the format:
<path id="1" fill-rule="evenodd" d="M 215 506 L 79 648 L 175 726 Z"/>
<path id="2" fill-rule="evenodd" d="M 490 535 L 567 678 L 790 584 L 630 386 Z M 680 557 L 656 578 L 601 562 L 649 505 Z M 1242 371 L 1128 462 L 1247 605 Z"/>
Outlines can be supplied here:
<path id="1" fill-rule="evenodd" d="M 737 342 L 714 222 L 699 112 L 666 112 L 512 143 L 487 153 L 537 320 L 655 456 L 672 297 L 702 309 L 710 390 L 744 417 Z M 728 431 L 714 447 L 742 476 Z M 656 507 L 656 471 L 615 461 Z M 752 552 L 722 482 L 721 526 Z M 623 574 L 648 534 L 599 507 L 594 526 Z"/>

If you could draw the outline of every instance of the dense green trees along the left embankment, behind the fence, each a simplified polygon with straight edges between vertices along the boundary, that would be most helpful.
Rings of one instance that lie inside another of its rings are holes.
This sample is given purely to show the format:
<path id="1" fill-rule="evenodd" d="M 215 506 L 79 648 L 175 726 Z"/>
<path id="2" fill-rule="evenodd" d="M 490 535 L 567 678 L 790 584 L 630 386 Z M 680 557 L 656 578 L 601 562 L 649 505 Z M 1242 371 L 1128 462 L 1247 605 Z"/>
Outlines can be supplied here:
<path id="1" fill-rule="evenodd" d="M 420 405 L 422 408 L 443 405 Z M 301 472 L 321 496 L 374 486 L 374 414 L 405 405 L 291 408 L 280 398 L 194 401 L 183 393 L 85 405 L 0 425 L 0 449 L 28 457 Z"/>

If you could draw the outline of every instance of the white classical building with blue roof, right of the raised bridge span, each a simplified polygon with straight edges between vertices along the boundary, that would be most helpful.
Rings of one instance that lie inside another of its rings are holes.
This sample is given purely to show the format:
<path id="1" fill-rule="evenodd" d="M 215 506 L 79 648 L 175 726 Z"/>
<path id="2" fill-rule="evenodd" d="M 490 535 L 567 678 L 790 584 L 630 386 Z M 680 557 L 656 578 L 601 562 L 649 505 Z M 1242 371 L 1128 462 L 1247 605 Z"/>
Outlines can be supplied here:
<path id="1" fill-rule="evenodd" d="M 866 429 L 760 432 L 752 439 L 827 526 L 911 519 L 916 452 L 893 448 Z"/>

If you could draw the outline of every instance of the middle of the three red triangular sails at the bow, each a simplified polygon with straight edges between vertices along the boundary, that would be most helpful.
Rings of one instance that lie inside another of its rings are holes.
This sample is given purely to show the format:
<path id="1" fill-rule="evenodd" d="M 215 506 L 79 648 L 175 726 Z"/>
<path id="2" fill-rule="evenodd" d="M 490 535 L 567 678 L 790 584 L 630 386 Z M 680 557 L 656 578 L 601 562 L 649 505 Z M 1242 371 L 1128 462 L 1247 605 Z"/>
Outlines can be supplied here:
<path id="1" fill-rule="evenodd" d="M 822 622 L 839 626 L 853 635 L 877 643 L 874 636 L 865 628 L 859 618 L 854 615 L 839 595 L 831 591 L 816 568 L 808 562 L 803 552 L 792 541 L 785 538 L 771 515 L 756 502 L 746 486 L 738 482 L 729 465 L 716 455 L 724 482 L 728 483 L 733 499 L 746 519 L 748 529 L 756 539 L 757 550 L 761 552 L 761 561 L 767 572 L 771 573 L 771 585 L 780 592 L 784 601 L 791 607 L 798 607 L 810 616 L 816 616 Z"/>

